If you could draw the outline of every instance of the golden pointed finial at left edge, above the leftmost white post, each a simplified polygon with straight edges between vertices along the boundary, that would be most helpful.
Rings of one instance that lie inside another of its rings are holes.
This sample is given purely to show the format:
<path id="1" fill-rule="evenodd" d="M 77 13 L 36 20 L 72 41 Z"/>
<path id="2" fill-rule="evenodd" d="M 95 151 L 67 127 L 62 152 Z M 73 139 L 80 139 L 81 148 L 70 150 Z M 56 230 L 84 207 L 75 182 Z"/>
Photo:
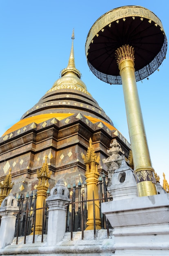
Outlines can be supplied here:
<path id="1" fill-rule="evenodd" d="M 12 183 L 11 168 L 9 169 L 9 174 L 4 179 L 4 182 L 0 182 L 0 206 L 2 201 L 9 195 L 14 182 Z"/>

